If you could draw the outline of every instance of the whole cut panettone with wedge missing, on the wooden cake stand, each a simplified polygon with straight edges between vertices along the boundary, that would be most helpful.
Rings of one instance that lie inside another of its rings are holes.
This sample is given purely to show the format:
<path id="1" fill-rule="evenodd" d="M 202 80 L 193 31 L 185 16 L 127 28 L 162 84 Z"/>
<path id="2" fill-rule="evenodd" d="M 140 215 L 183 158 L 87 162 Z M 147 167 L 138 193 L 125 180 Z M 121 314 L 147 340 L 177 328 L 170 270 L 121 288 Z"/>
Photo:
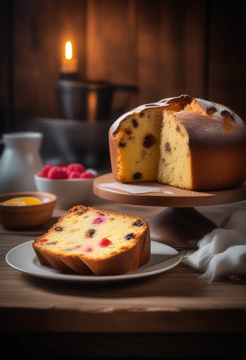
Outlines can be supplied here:
<path id="1" fill-rule="evenodd" d="M 246 126 L 235 112 L 187 95 L 156 104 L 142 105 L 111 127 L 115 180 L 158 180 L 193 190 L 226 189 L 245 181 Z"/>

